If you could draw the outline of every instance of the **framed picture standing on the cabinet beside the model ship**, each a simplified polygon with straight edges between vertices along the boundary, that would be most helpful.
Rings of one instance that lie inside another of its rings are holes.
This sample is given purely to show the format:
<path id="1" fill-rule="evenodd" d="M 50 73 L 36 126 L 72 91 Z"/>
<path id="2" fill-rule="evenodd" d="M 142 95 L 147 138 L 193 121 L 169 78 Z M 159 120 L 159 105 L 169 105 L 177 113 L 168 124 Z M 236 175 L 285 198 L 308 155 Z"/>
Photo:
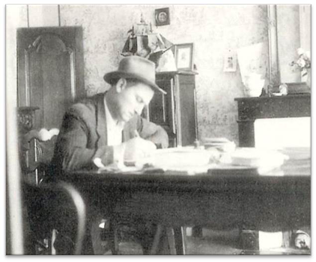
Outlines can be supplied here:
<path id="1" fill-rule="evenodd" d="M 175 45 L 174 54 L 178 70 L 193 70 L 193 43 Z"/>

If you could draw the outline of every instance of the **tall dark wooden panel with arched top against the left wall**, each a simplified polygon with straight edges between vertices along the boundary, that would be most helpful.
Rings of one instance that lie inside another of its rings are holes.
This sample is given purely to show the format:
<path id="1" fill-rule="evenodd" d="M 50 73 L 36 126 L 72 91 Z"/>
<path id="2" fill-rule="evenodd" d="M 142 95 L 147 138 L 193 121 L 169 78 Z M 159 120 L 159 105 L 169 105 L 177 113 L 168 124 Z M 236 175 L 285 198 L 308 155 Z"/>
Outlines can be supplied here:
<path id="1" fill-rule="evenodd" d="M 81 27 L 18 29 L 18 105 L 39 107 L 35 129 L 58 128 L 84 94 L 82 49 Z"/>

